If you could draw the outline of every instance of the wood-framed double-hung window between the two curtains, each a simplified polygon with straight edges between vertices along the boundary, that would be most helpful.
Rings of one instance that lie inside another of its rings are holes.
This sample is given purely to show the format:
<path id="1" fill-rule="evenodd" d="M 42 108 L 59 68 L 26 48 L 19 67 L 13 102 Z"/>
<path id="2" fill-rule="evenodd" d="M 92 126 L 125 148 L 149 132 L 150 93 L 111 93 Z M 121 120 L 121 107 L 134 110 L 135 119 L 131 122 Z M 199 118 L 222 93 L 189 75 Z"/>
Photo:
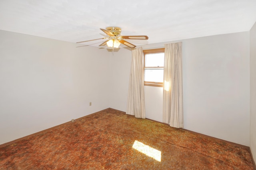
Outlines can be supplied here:
<path id="1" fill-rule="evenodd" d="M 143 50 L 144 86 L 163 86 L 164 48 Z"/>

